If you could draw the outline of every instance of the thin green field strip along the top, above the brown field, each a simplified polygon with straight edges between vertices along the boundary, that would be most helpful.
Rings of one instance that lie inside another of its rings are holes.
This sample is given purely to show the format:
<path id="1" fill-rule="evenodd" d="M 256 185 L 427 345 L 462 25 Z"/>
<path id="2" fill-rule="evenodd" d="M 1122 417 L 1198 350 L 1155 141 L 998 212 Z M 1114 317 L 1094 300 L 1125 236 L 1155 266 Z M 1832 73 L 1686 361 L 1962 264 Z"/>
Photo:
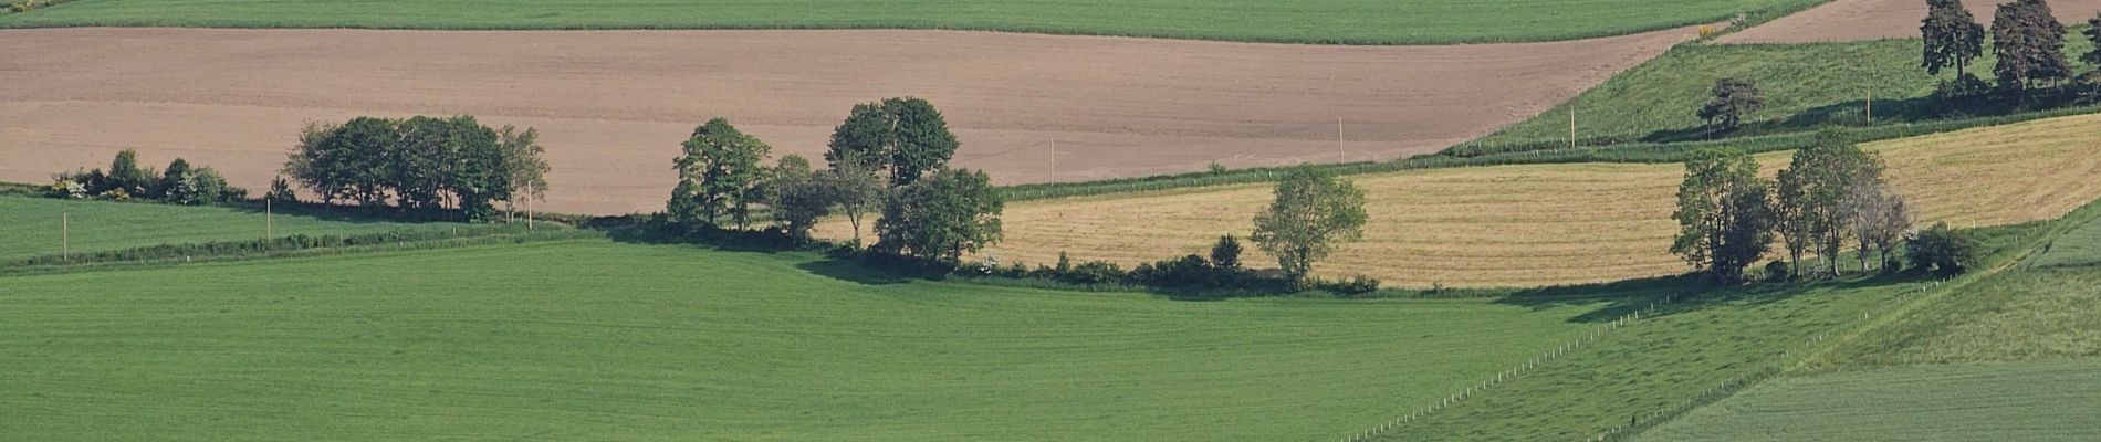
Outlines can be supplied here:
<path id="1" fill-rule="evenodd" d="M 389 29 L 996 29 L 1250 42 L 1452 44 L 1574 40 L 1773 17 L 1824 0 L 76 0 L 0 27 Z"/>

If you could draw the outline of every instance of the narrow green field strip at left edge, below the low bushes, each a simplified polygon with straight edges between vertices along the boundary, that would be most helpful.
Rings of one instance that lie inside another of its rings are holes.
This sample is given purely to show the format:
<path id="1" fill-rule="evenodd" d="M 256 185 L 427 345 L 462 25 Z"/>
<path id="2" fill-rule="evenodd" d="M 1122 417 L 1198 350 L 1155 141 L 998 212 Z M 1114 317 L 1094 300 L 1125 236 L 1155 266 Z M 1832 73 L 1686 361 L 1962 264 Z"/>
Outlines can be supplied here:
<path id="1" fill-rule="evenodd" d="M 6 226 L 0 228 L 0 260 L 57 256 L 61 251 L 59 214 L 69 214 L 71 218 L 74 251 L 263 237 L 261 209 L 0 197 L 0 226 Z M 271 224 L 275 235 L 473 228 L 452 222 L 405 224 L 309 214 L 277 214 Z"/>

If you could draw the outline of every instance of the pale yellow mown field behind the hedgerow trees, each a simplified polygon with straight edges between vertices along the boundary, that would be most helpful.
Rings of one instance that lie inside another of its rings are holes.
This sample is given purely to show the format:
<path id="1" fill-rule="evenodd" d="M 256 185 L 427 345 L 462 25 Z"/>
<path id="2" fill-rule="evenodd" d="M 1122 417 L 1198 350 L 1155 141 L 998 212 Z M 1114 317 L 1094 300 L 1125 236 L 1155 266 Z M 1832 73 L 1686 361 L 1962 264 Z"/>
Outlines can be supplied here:
<path id="1" fill-rule="evenodd" d="M 2051 220 L 2101 197 L 2101 115 L 2038 119 L 1864 145 L 1922 222 L 1996 226 Z M 1761 155 L 1767 174 L 1790 153 Z M 1685 272 L 1668 253 L 1683 168 L 1565 163 L 1349 176 L 1368 193 L 1361 243 L 1317 274 L 1368 274 L 1406 287 L 1532 287 Z M 1023 201 L 1006 239 L 981 256 L 1002 264 L 1109 260 L 1124 266 L 1204 253 L 1246 237 L 1269 184 Z M 851 237 L 828 222 L 824 237 Z M 1250 256 L 1248 262 L 1273 264 Z"/>

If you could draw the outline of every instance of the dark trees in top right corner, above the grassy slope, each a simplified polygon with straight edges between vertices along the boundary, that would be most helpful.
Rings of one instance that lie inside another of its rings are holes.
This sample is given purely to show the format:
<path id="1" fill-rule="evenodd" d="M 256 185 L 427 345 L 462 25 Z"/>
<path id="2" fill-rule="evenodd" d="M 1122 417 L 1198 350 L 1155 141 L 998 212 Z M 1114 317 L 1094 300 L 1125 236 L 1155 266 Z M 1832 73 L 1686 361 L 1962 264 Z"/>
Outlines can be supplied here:
<path id="1" fill-rule="evenodd" d="M 2101 25 L 2101 15 L 2088 23 Z M 1983 54 L 1985 27 L 1960 0 L 1927 0 L 1927 19 L 1918 31 L 1925 40 L 1920 67 L 1933 75 L 1950 67 L 1956 71 L 1943 94 L 1983 90 L 1983 80 L 1971 75 L 1967 67 Z M 2000 88 L 2017 92 L 2074 78 L 2072 63 L 2065 61 L 2065 25 L 2057 23 L 2046 0 L 1998 4 L 1990 36 L 1992 54 L 1998 59 L 1992 73 Z M 2101 42 L 2101 31 L 2086 29 L 2086 38 Z M 2101 63 L 2101 46 L 2080 59 Z"/>

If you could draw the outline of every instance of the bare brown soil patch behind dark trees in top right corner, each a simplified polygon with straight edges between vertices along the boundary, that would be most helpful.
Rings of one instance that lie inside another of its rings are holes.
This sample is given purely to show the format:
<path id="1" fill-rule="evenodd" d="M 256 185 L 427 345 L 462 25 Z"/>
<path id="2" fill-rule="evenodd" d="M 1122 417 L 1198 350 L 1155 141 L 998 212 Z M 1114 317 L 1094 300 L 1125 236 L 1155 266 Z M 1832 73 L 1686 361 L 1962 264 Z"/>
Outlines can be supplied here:
<path id="1" fill-rule="evenodd" d="M 2011 0 L 1962 0 L 1977 23 L 1992 27 L 1998 4 Z M 2051 0 L 2051 13 L 2063 23 L 2086 23 L 2101 13 L 2101 0 Z M 1725 44 L 1801 44 L 1801 42 L 1855 42 L 1882 38 L 1918 38 L 1918 23 L 1927 19 L 1925 0 L 1836 0 L 1803 13 L 1794 13 L 1765 25 L 1721 36 Z M 2076 38 L 2076 36 L 2067 36 Z"/>

